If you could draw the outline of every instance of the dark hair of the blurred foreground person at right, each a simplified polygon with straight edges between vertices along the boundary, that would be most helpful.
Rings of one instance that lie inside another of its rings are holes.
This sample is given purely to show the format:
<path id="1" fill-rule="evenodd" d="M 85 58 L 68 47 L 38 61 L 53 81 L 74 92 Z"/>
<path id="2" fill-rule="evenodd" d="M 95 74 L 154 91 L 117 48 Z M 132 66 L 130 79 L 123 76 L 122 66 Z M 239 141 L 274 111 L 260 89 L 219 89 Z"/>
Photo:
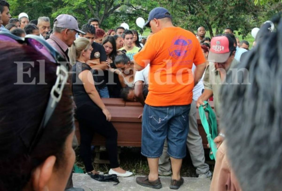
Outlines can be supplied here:
<path id="1" fill-rule="evenodd" d="M 222 85 L 221 122 L 231 166 L 242 190 L 281 190 L 282 187 L 282 21 L 277 30 L 263 25 L 257 45 L 238 72 L 237 84 Z M 248 78 L 248 84 L 243 82 Z M 230 81 L 232 75 L 226 76 Z"/>

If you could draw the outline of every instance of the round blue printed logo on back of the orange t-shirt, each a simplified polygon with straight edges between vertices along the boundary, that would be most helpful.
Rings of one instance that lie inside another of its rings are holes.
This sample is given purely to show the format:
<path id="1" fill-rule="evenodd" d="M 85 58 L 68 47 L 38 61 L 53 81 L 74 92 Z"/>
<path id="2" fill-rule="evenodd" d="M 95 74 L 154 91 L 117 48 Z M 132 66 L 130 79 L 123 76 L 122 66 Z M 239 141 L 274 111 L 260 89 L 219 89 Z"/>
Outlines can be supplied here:
<path id="1" fill-rule="evenodd" d="M 179 60 L 189 55 L 193 48 L 192 41 L 184 36 L 176 36 L 172 40 L 172 45 L 169 47 L 169 55 Z"/>

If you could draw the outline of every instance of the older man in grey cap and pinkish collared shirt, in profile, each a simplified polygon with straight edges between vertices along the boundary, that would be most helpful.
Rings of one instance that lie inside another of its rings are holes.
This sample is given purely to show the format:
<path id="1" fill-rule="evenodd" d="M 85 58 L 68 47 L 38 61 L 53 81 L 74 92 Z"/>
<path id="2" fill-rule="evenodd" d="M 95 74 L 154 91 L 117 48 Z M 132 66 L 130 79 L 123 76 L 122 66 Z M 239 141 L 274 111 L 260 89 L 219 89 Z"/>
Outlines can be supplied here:
<path id="1" fill-rule="evenodd" d="M 69 61 L 68 48 L 71 47 L 76 39 L 77 32 L 85 34 L 85 32 L 79 30 L 78 23 L 73 16 L 59 15 L 54 20 L 53 34 L 50 35 L 47 42 Z"/>

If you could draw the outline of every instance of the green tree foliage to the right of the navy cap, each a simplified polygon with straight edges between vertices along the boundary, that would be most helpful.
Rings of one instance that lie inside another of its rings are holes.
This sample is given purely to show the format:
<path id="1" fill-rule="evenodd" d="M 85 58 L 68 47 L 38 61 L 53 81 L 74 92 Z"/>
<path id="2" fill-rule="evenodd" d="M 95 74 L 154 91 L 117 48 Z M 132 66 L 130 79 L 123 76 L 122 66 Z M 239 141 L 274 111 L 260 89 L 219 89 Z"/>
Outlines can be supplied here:
<path id="1" fill-rule="evenodd" d="M 175 24 L 193 31 L 205 26 L 211 37 L 213 28 L 219 34 L 225 27 L 246 36 L 263 10 L 263 6 L 254 5 L 252 0 L 166 0 L 162 4 L 173 14 Z"/>

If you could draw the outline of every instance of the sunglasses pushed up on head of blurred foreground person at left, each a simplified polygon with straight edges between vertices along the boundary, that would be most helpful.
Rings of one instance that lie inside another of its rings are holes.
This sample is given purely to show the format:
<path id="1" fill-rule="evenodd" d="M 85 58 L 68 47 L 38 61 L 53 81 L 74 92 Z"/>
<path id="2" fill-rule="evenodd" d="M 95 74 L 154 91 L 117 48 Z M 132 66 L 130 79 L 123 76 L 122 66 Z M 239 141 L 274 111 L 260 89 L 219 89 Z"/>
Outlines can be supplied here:
<path id="1" fill-rule="evenodd" d="M 49 43 L 47 43 L 44 39 L 36 35 L 26 35 L 25 38 L 22 38 L 15 36 L 11 33 L 0 32 L 0 41 L 19 43 L 31 46 L 38 52 L 40 52 L 43 56 L 45 56 L 49 61 L 57 65 L 57 79 L 51 89 L 48 104 L 45 109 L 45 113 L 43 115 L 43 119 L 41 120 L 40 126 L 37 129 L 34 138 L 30 142 L 30 144 L 27 145 L 25 141 L 23 141 L 24 145 L 28 150 L 28 153 L 31 153 L 32 150 L 35 148 L 36 144 L 39 142 L 41 135 L 43 134 L 43 130 L 46 128 L 47 123 L 49 122 L 56 106 L 58 105 L 61 99 L 64 86 L 68 79 L 68 63 L 63 58 L 63 56 L 60 55 L 60 53 L 58 53 L 53 47 L 49 45 Z M 22 137 L 20 138 L 21 140 L 23 140 Z"/>

